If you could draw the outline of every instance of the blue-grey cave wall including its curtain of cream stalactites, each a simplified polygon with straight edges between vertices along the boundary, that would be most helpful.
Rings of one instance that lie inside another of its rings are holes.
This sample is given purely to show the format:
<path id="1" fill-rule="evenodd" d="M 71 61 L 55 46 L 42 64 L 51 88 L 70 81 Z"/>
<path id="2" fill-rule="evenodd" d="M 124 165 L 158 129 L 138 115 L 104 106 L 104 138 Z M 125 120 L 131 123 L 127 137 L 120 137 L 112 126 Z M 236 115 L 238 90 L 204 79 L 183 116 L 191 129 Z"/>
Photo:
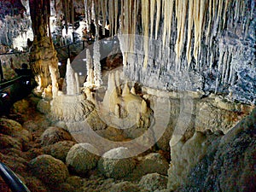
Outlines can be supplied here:
<path id="1" fill-rule="evenodd" d="M 162 90 L 202 90 L 255 103 L 254 1 L 84 3 L 85 19 L 108 20 L 112 35 L 119 35 L 130 79 Z"/>

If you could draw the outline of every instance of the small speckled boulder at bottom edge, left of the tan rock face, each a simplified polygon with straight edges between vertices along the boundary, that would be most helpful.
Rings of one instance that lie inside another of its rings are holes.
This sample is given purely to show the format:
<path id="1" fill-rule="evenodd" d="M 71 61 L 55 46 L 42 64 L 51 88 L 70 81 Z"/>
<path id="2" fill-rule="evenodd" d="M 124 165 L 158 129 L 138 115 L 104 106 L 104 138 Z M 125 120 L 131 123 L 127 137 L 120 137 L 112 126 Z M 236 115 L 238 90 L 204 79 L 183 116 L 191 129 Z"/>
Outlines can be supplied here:
<path id="1" fill-rule="evenodd" d="M 151 173 L 142 177 L 138 185 L 142 189 L 149 191 L 166 189 L 168 177 L 162 176 L 159 173 Z"/>

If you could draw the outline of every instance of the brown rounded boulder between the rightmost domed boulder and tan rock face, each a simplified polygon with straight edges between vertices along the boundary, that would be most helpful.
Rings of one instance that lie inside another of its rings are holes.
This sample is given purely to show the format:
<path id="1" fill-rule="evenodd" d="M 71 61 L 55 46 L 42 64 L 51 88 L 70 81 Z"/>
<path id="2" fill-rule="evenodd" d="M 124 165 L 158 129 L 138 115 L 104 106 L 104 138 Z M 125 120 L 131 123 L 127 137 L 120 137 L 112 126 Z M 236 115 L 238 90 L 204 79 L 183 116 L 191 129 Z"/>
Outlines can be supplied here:
<path id="1" fill-rule="evenodd" d="M 158 153 L 147 154 L 139 161 L 133 173 L 135 177 L 143 177 L 148 173 L 157 172 L 161 175 L 167 175 L 169 163 Z"/>

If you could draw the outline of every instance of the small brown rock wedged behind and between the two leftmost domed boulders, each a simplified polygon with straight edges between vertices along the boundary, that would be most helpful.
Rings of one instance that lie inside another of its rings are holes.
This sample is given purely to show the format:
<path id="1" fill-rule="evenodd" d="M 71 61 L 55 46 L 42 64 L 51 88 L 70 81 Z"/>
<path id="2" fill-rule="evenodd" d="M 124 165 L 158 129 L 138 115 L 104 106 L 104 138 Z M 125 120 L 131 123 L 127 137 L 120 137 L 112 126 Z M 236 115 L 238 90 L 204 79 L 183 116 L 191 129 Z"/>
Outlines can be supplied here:
<path id="1" fill-rule="evenodd" d="M 76 143 L 73 141 L 62 141 L 46 146 L 44 148 L 44 151 L 46 152 L 46 154 L 50 154 L 54 158 L 62 160 L 65 163 L 68 151 L 75 144 Z"/>

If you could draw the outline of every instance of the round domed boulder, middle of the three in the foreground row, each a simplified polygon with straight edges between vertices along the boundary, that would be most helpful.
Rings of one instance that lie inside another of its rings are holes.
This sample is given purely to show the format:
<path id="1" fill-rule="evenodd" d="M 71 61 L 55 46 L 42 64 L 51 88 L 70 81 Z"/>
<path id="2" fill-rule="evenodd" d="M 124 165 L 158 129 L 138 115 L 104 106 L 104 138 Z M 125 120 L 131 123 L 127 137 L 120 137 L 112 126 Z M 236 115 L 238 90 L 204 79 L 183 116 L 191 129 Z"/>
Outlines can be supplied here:
<path id="1" fill-rule="evenodd" d="M 96 167 L 99 159 L 96 154 L 98 154 L 97 149 L 90 143 L 75 144 L 67 153 L 67 166 L 72 172 L 85 175 Z"/>

